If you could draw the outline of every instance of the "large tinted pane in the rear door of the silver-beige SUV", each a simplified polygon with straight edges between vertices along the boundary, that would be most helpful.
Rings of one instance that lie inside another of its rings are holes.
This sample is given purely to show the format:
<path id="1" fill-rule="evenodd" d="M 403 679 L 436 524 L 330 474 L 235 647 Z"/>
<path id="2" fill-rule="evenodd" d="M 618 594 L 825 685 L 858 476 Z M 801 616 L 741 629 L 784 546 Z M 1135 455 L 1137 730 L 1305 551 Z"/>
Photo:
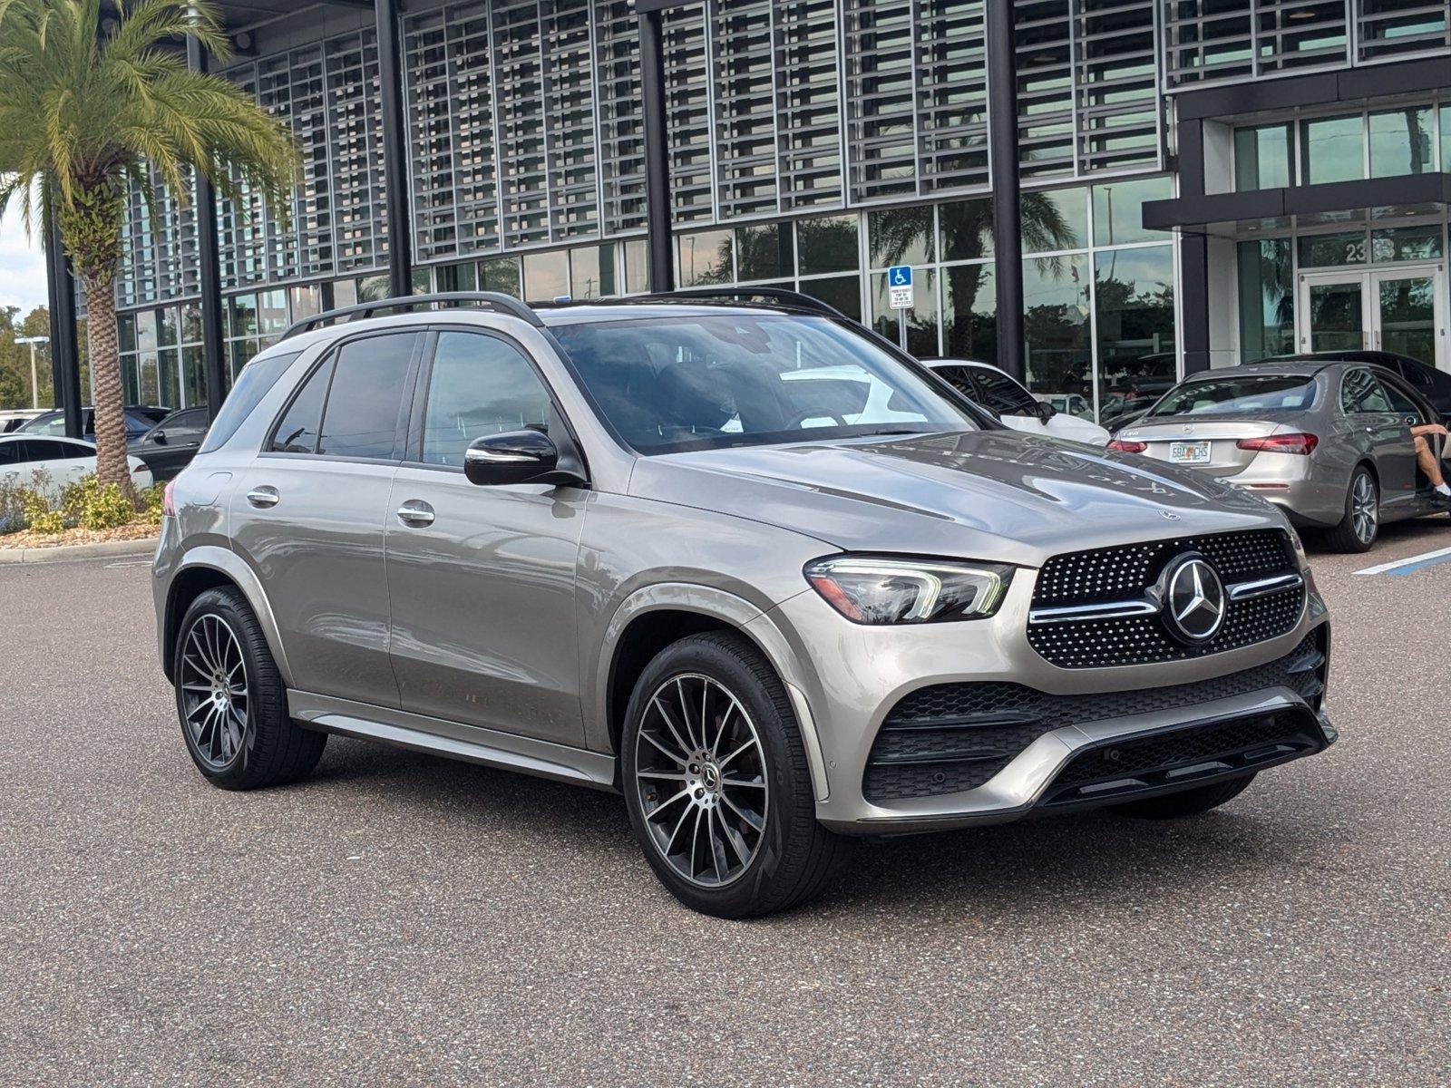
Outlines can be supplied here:
<path id="1" fill-rule="evenodd" d="M 402 332 L 342 345 L 322 413 L 318 453 L 393 457 L 403 412 L 403 382 L 416 341 L 416 334 Z"/>

